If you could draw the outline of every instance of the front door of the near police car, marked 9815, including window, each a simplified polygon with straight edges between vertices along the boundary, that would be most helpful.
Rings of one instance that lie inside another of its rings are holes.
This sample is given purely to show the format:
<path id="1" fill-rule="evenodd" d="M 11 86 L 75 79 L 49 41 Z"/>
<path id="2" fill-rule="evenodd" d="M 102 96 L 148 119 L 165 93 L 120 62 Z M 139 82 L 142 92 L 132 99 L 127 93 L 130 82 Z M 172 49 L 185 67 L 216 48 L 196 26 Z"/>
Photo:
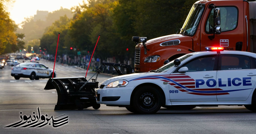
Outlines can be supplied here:
<path id="1" fill-rule="evenodd" d="M 179 67 L 187 67 L 187 72 L 179 73 L 178 68 L 170 74 L 170 101 L 217 101 L 216 61 L 216 54 L 197 57 Z"/>

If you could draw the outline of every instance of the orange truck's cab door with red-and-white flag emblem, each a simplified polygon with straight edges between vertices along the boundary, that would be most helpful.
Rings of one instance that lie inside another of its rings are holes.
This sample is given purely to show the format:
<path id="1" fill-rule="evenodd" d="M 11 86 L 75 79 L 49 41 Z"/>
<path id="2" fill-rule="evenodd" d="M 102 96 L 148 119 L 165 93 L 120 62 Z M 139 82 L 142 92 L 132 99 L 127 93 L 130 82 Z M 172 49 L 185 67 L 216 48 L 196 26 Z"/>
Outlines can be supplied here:
<path id="1" fill-rule="evenodd" d="M 245 51 L 244 45 L 244 16 L 243 1 L 212 2 L 220 8 L 221 34 L 213 37 L 213 8 L 206 8 L 206 13 L 201 24 L 201 51 L 205 47 L 224 47 L 224 50 Z M 216 26 L 216 25 L 215 25 Z M 212 39 L 209 39 L 212 38 Z"/>

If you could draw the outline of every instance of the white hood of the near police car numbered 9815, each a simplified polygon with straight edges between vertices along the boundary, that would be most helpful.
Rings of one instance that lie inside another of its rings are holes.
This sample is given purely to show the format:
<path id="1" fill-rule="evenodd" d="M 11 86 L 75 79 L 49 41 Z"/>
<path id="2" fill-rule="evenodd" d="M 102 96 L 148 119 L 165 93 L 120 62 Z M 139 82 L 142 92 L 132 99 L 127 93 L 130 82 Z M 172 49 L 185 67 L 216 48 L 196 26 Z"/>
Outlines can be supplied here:
<path id="1" fill-rule="evenodd" d="M 122 79 L 130 81 L 130 80 L 136 79 L 138 77 L 145 77 L 145 76 L 149 76 L 149 75 L 152 75 L 152 74 L 156 75 L 156 74 L 159 74 L 159 73 L 156 73 L 156 72 L 141 72 L 141 73 L 132 73 L 132 74 L 129 74 L 129 75 L 116 76 L 116 77 L 112 77 L 112 78 L 104 80 L 101 83 L 101 85 L 106 86 L 110 82 L 117 81 L 117 80 L 122 80 Z"/>

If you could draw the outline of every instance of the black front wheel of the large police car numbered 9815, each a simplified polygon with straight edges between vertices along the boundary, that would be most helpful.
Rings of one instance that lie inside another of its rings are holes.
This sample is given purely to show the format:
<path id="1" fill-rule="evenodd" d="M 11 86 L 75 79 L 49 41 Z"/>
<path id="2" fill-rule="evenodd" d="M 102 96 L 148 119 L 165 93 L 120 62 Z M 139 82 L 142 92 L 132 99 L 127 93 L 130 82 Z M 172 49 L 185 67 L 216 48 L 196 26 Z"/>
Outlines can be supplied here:
<path id="1" fill-rule="evenodd" d="M 140 114 L 156 113 L 162 105 L 162 95 L 153 86 L 143 86 L 131 97 L 131 106 Z"/>

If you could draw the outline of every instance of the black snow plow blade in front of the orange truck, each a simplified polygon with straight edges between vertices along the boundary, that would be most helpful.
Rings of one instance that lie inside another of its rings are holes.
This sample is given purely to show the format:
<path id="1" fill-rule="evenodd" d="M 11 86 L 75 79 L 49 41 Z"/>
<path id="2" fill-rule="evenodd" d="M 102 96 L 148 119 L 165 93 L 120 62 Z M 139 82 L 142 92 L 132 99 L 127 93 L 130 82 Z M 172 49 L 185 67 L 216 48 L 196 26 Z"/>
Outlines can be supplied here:
<path id="1" fill-rule="evenodd" d="M 88 82 L 81 88 L 85 82 L 84 77 L 50 78 L 44 89 L 57 91 L 58 101 L 54 110 L 82 110 L 91 106 L 99 109 L 100 104 L 96 103 L 95 98 L 95 88 L 99 88 L 99 82 Z"/>

